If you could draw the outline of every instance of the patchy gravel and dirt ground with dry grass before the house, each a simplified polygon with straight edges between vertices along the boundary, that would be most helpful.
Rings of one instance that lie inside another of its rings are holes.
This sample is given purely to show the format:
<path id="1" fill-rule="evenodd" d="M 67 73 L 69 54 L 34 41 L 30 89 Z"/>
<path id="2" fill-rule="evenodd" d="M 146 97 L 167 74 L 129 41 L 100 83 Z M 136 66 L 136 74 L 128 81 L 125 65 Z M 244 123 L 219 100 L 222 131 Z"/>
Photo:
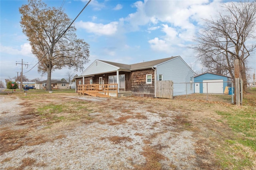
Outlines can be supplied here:
<path id="1" fill-rule="evenodd" d="M 230 130 L 216 121 L 216 107 L 225 105 L 214 103 L 77 94 L 0 99 L 1 169 L 217 170 L 211 148 Z"/>

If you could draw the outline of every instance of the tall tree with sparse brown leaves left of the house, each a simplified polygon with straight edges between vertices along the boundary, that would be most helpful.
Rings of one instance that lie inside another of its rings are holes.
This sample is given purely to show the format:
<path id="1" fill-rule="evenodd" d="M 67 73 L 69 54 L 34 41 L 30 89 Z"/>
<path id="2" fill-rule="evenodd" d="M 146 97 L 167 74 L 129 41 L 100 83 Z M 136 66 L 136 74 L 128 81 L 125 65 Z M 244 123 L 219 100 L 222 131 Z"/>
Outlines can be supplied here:
<path id="1" fill-rule="evenodd" d="M 38 72 L 47 73 L 46 90 L 52 89 L 51 73 L 55 69 L 83 69 L 88 62 L 89 44 L 76 38 L 76 28 L 70 26 L 72 21 L 61 8 L 47 7 L 41 0 L 28 0 L 19 11 L 22 31 L 39 61 Z"/>

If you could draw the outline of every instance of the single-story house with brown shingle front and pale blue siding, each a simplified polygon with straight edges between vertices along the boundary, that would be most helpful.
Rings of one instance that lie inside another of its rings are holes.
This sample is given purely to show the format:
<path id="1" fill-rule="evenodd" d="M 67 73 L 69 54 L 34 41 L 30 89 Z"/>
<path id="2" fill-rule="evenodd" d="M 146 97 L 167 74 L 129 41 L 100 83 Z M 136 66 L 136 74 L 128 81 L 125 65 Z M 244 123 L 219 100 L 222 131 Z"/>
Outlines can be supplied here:
<path id="1" fill-rule="evenodd" d="M 194 71 L 180 56 L 136 64 L 96 59 L 81 76 L 75 77 L 76 92 L 78 85 L 117 83 L 118 96 L 130 93 L 140 97 L 156 97 L 156 81 L 172 80 L 173 95 L 184 95 L 185 82 L 192 83 L 194 75 Z M 194 93 L 194 88 L 187 89 L 187 93 Z"/>

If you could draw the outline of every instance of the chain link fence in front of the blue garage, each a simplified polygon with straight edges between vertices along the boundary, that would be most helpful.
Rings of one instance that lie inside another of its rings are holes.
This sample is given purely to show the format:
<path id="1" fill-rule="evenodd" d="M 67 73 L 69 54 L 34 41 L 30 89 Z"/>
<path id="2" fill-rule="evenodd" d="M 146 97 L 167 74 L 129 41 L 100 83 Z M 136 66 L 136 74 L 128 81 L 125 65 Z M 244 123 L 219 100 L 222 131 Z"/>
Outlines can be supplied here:
<path id="1" fill-rule="evenodd" d="M 174 99 L 196 99 L 232 104 L 234 103 L 234 87 L 232 81 L 206 81 L 194 83 L 174 82 L 173 84 Z"/>

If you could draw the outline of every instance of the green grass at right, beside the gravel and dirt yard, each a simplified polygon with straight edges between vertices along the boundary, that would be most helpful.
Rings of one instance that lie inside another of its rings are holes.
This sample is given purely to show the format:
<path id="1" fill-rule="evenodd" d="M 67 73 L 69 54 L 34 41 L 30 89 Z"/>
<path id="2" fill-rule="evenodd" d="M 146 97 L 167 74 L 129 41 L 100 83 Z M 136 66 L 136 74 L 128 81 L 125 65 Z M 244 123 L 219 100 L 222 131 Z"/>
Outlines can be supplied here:
<path id="1" fill-rule="evenodd" d="M 230 111 L 216 111 L 222 116 L 219 122 L 225 122 L 232 128 L 234 136 L 225 140 L 216 156 L 222 169 L 242 170 L 255 167 L 256 155 L 256 88 L 244 94 L 246 103 L 242 107 L 233 107 Z M 249 168 L 248 168 L 249 167 Z"/>

